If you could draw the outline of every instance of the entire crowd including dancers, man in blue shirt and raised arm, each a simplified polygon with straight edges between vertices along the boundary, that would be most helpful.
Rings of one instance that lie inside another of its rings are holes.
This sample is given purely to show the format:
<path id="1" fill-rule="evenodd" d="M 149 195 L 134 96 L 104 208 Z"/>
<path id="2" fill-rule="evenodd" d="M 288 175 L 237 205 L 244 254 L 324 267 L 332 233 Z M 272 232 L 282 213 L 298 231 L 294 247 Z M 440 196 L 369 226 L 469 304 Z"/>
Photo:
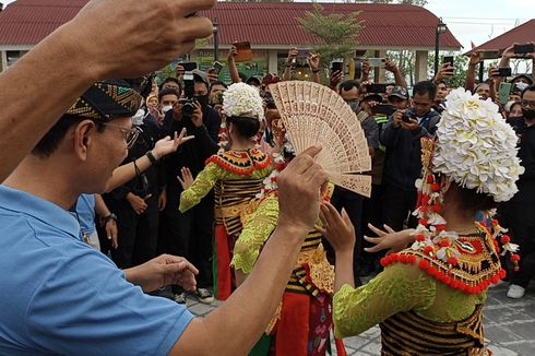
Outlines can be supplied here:
<path id="1" fill-rule="evenodd" d="M 90 1 L 0 75 L 0 265 L 13 272 L 0 277 L 0 353 L 324 355 L 330 330 L 379 323 L 385 353 L 485 354 L 486 289 L 508 277 L 521 298 L 533 277 L 533 79 L 491 69 L 475 83 L 479 54 L 467 92 L 448 86 L 449 64 L 412 94 L 390 59 L 384 91 L 366 60 L 360 78 L 330 72 L 372 157 L 365 198 L 329 183 L 321 147 L 296 155 L 285 135 L 270 85 L 292 80 L 297 49 L 281 76 L 246 78 L 233 47 L 233 83 L 179 66 L 158 85 L 147 73 L 210 34 L 194 14 L 214 1 L 155 2 L 129 14 Z M 155 36 L 158 48 L 140 44 Z M 307 62 L 320 82 L 321 58 Z M 28 81 L 35 108 L 13 105 Z M 195 319 L 188 293 L 225 302 Z"/>

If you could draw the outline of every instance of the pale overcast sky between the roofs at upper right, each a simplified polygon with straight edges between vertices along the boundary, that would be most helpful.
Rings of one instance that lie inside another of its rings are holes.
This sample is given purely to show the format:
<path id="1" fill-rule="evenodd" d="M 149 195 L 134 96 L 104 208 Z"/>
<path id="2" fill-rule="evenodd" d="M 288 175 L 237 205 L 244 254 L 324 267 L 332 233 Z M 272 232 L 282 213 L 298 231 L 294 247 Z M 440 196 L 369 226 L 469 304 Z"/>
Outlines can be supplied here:
<path id="1" fill-rule="evenodd" d="M 7 4 L 13 0 L 0 2 Z M 426 9 L 442 17 L 464 50 L 467 50 L 471 41 L 478 46 L 526 22 L 530 15 L 535 16 L 535 0 L 428 0 Z"/>

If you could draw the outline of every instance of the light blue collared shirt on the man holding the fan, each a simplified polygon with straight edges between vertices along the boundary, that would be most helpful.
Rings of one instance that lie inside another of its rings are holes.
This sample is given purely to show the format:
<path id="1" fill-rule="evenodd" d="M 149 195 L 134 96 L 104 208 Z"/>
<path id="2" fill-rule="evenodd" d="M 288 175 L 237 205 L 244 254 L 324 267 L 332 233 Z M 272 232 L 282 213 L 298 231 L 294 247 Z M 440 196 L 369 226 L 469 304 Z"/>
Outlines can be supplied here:
<path id="1" fill-rule="evenodd" d="M 0 355 L 166 355 L 193 316 L 79 233 L 69 212 L 0 186 Z"/>

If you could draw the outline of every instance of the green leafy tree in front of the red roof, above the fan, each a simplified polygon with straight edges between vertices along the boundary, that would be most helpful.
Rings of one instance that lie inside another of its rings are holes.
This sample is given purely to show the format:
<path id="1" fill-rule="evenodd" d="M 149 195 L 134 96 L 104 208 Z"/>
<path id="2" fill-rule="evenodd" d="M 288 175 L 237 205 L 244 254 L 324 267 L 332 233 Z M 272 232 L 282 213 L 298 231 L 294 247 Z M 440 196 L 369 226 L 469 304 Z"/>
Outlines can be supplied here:
<path id="1" fill-rule="evenodd" d="M 305 31 L 319 39 L 320 44 L 313 46 L 313 50 L 320 55 L 324 68 L 329 68 L 333 59 L 346 58 L 354 51 L 358 33 L 364 28 L 359 14 L 360 11 L 326 14 L 322 5 L 314 3 L 313 11 L 297 19 Z"/>

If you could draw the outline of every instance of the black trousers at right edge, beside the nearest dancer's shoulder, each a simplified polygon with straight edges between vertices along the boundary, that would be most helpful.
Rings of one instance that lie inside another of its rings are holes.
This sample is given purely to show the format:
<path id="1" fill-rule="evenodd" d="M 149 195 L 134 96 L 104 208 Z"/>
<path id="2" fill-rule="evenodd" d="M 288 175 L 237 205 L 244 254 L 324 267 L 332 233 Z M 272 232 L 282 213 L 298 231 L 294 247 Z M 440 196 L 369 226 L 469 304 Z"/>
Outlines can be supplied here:
<path id="1" fill-rule="evenodd" d="M 535 276 L 535 205 L 508 202 L 500 206 L 500 214 L 511 241 L 520 247 L 520 270 L 510 271 L 509 280 L 525 288 Z"/>

